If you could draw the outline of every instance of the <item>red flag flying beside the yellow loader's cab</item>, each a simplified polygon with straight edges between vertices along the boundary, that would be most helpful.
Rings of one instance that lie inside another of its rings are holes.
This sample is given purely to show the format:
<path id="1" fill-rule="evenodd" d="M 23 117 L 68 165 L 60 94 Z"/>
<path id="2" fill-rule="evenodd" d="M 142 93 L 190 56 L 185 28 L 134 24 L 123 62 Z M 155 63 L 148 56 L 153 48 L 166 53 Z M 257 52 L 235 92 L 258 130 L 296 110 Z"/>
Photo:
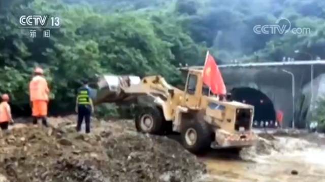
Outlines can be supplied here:
<path id="1" fill-rule="evenodd" d="M 213 94 L 225 95 L 225 85 L 213 57 L 207 52 L 205 65 L 203 69 L 203 82 L 211 88 Z"/>

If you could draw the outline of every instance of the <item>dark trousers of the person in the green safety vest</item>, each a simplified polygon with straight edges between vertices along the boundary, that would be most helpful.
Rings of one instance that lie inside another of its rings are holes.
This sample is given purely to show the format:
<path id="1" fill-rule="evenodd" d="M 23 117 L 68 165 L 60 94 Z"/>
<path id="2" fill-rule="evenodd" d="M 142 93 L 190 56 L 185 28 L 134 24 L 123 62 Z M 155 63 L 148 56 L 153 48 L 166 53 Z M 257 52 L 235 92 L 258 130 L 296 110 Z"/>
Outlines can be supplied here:
<path id="1" fill-rule="evenodd" d="M 88 105 L 79 105 L 78 106 L 78 121 L 77 121 L 77 131 L 81 130 L 81 124 L 83 119 L 86 122 L 86 133 L 90 133 L 90 115 L 91 107 Z"/>

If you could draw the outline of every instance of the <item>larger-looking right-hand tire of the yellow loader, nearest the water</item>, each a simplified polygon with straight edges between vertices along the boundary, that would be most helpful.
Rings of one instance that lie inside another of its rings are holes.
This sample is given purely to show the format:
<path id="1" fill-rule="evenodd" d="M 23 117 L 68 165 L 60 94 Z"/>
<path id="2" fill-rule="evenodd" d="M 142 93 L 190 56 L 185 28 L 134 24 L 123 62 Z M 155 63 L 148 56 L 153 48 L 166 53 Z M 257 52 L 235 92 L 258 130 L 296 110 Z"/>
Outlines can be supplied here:
<path id="1" fill-rule="evenodd" d="M 182 123 L 181 138 L 184 148 L 194 154 L 207 152 L 212 142 L 209 125 L 200 117 Z"/>

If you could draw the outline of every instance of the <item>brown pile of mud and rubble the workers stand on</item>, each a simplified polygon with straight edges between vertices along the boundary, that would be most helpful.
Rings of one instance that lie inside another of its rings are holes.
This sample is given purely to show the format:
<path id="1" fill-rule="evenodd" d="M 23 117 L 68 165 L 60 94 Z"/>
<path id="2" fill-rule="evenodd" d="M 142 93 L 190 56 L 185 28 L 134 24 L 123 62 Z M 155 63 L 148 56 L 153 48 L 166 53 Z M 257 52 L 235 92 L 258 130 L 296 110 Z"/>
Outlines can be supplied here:
<path id="1" fill-rule="evenodd" d="M 169 139 L 139 134 L 129 121 L 94 121 L 75 132 L 75 117 L 53 128 L 20 124 L 0 139 L 0 181 L 193 181 L 205 165 Z"/>

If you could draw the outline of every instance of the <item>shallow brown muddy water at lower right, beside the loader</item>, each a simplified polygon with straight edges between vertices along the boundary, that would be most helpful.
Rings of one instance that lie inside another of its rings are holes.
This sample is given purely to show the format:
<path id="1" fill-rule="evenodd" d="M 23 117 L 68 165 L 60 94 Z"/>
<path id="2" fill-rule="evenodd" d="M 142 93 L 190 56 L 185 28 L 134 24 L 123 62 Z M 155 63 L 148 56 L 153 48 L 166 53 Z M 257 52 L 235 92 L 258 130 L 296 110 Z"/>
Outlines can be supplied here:
<path id="1" fill-rule="evenodd" d="M 207 165 L 208 174 L 198 181 L 325 181 L 324 146 L 311 144 L 303 139 L 277 137 L 263 150 L 266 152 L 248 148 L 239 155 L 212 151 L 200 157 Z"/>

